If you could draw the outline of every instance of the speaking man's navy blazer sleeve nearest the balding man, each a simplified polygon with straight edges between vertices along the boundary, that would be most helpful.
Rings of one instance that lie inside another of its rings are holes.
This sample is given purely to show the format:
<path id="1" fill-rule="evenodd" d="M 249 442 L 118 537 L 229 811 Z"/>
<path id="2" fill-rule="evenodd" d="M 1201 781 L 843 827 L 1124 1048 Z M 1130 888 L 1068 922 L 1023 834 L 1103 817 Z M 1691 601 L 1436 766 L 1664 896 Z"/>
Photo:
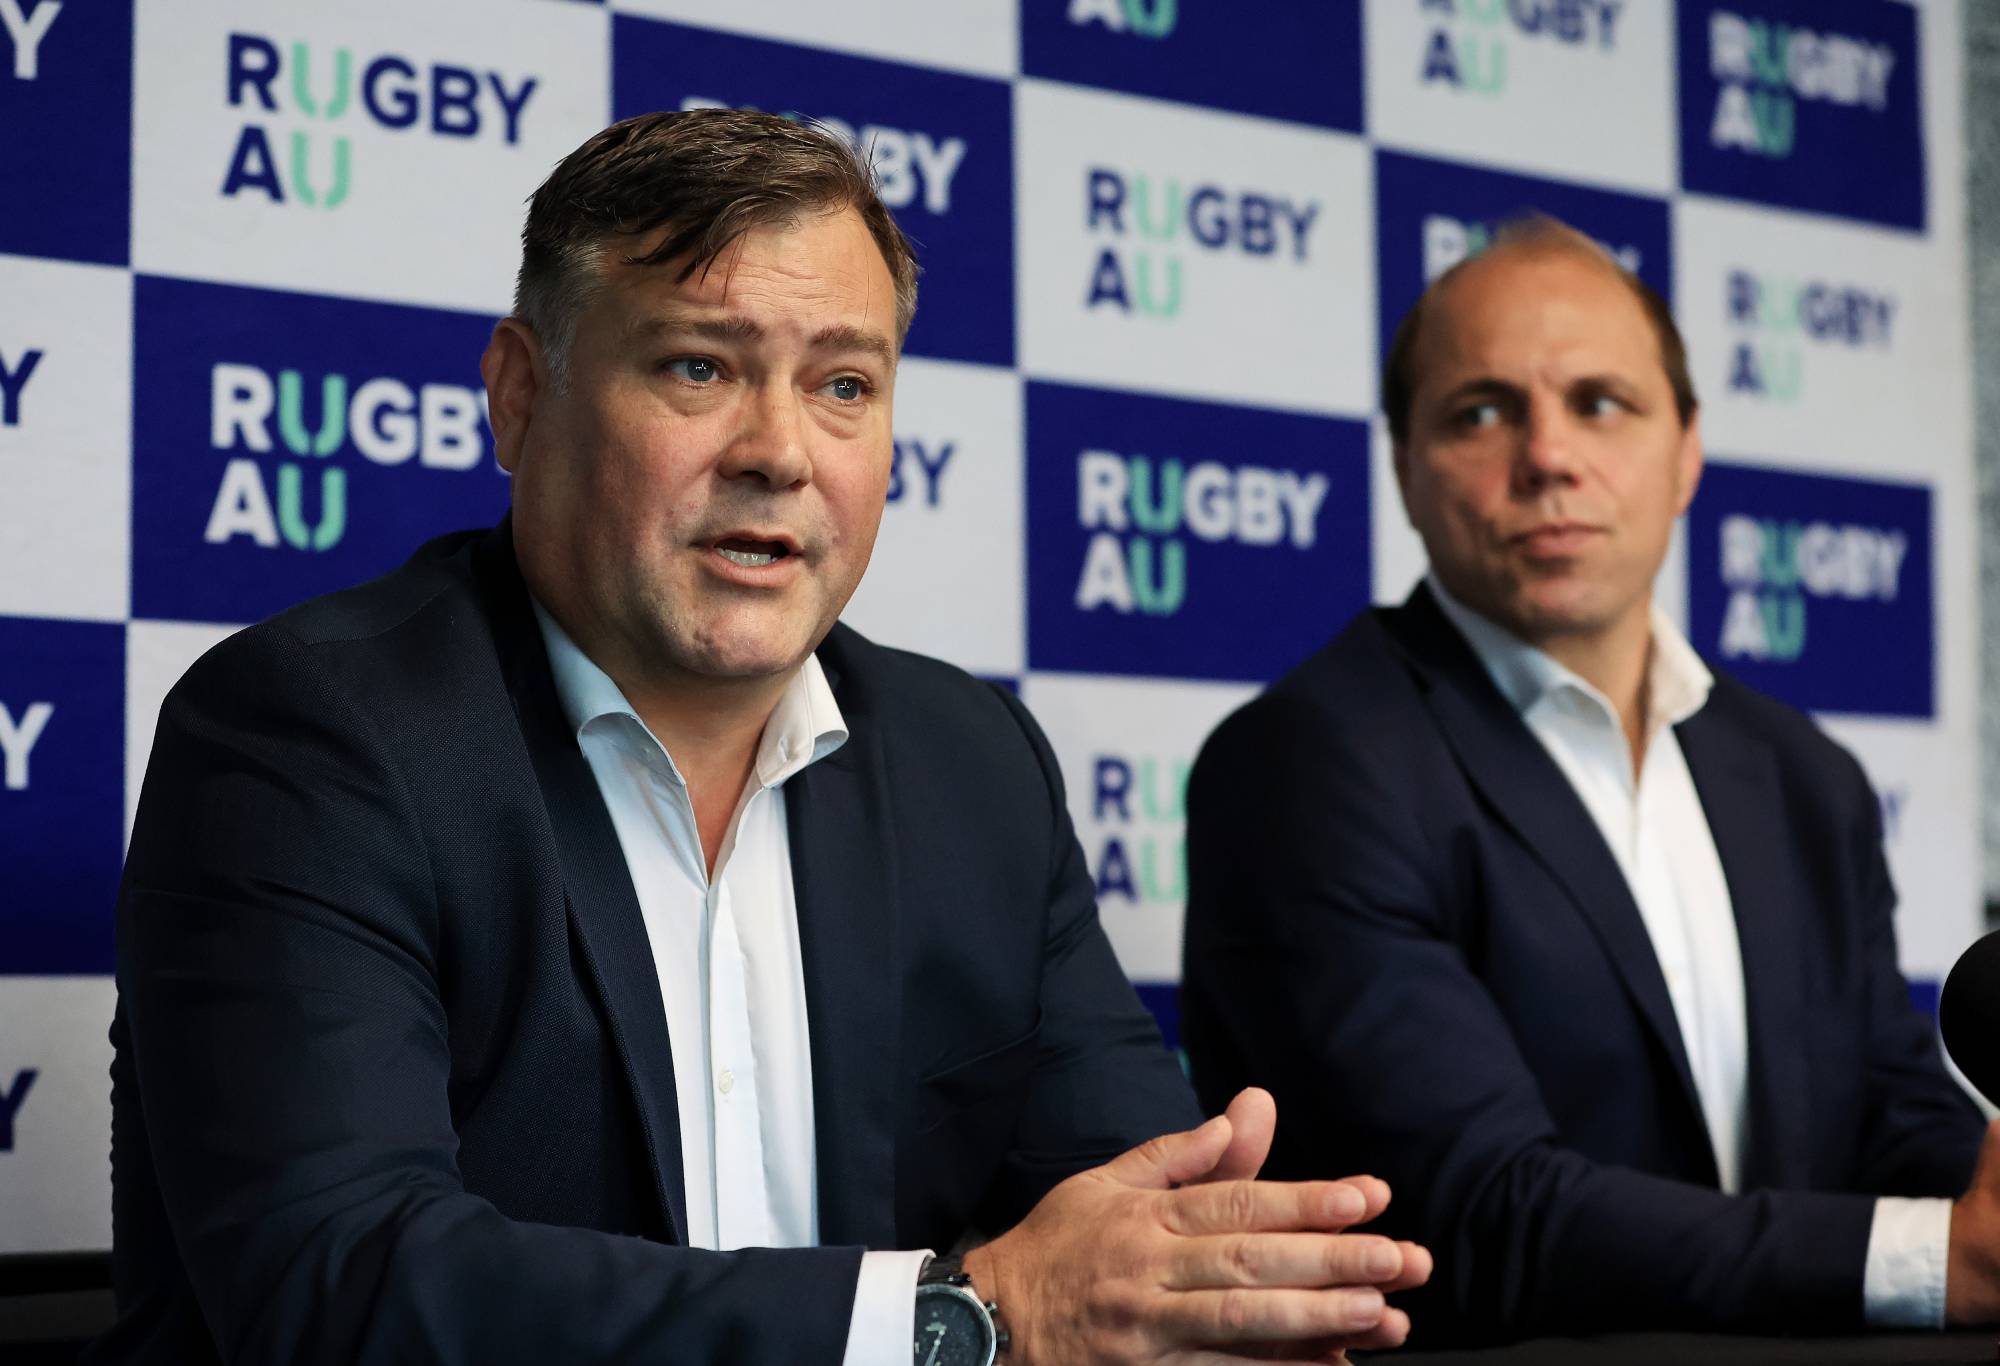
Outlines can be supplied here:
<path id="1" fill-rule="evenodd" d="M 1048 792 L 1048 904 L 1042 1024 L 1028 1104 L 980 1210 L 986 1232 L 1020 1220 L 1050 1186 L 1158 1134 L 1202 1122 L 1160 1028 L 1126 980 L 1098 920 L 1096 884 L 1070 822 L 1062 772 L 1028 708 L 996 692 Z"/>

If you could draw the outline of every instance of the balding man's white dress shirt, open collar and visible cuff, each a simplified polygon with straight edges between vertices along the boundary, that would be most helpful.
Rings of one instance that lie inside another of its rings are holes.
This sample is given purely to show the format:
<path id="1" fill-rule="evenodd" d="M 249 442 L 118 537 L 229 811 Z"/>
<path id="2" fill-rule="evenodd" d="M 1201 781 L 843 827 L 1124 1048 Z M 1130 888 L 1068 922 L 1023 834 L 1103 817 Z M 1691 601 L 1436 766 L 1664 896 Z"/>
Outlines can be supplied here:
<path id="1" fill-rule="evenodd" d="M 1674 622 L 1654 608 L 1646 744 L 1634 774 L 1618 708 L 1602 692 L 1466 608 L 1436 574 L 1426 582 L 1494 686 L 1570 780 L 1618 860 L 1674 1002 L 1720 1186 L 1736 1194 L 1748 1142 L 1750 1080 L 1742 952 L 1722 858 L 1674 736 L 1674 726 L 1708 702 L 1714 676 Z M 1876 1200 L 1862 1276 L 1870 1324 L 1944 1326 L 1950 1232 L 1950 1200 Z"/>

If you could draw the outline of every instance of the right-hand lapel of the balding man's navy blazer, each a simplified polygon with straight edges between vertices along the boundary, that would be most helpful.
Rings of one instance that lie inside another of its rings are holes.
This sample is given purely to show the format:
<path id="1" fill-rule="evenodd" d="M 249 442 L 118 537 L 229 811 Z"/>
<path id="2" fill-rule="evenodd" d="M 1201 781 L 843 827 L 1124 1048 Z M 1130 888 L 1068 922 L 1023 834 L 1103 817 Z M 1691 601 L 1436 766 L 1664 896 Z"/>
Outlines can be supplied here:
<path id="1" fill-rule="evenodd" d="M 1804 984 L 1800 982 L 1800 892 L 1786 876 L 1782 846 L 1770 838 L 1782 810 L 1770 746 L 1718 714 L 1714 698 L 1676 728 L 1688 774 L 1702 798 L 1708 832 L 1736 912 L 1750 1028 L 1750 1144 L 1744 1188 L 1806 1180 Z"/>

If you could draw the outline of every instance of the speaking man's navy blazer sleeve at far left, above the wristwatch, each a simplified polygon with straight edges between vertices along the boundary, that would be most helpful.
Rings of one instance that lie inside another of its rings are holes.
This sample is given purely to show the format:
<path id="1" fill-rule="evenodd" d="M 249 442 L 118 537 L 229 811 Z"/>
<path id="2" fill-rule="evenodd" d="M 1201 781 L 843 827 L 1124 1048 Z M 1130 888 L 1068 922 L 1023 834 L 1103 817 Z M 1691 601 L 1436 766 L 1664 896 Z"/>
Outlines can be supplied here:
<path id="1" fill-rule="evenodd" d="M 702 1252 L 466 1192 L 422 828 L 360 700 L 278 628 L 162 710 L 120 1010 L 222 1360 L 840 1360 L 860 1248 Z"/>

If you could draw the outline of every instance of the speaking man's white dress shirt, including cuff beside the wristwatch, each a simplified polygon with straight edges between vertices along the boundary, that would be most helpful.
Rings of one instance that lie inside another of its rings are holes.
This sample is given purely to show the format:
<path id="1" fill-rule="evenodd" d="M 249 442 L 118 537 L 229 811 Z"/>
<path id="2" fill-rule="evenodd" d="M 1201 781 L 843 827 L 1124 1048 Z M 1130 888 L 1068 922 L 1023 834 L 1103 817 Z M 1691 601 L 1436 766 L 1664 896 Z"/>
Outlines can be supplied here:
<path id="1" fill-rule="evenodd" d="M 808 656 L 778 698 L 710 876 L 688 784 L 666 746 L 542 604 L 534 614 L 562 714 L 618 832 L 660 976 L 688 1246 L 816 1246 L 812 1028 L 784 782 L 848 738 L 820 660 Z M 926 1256 L 862 1256 L 842 1366 L 910 1360 Z"/>

